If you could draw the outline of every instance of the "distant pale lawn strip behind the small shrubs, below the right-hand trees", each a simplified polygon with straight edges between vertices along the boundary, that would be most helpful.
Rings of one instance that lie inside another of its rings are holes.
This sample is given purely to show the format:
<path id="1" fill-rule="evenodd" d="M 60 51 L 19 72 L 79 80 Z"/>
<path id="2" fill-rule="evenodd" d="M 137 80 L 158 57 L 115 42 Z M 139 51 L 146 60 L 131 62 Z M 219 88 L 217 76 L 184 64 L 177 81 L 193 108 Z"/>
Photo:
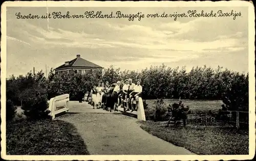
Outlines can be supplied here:
<path id="1" fill-rule="evenodd" d="M 146 100 L 148 107 L 152 107 L 154 105 L 155 99 Z M 164 99 L 166 105 L 173 104 L 175 102 L 178 103 L 178 99 Z M 221 109 L 222 101 L 220 100 L 187 100 L 182 99 L 182 102 L 185 106 L 189 106 L 193 113 L 208 113 L 211 111 L 218 111 Z"/>

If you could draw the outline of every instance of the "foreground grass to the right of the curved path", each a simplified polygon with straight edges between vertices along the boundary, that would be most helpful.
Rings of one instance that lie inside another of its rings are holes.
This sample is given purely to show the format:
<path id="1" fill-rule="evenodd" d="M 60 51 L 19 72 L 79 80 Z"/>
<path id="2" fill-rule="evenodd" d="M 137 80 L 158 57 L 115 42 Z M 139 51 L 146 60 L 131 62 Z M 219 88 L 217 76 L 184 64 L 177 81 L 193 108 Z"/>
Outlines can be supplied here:
<path id="1" fill-rule="evenodd" d="M 141 128 L 174 145 L 200 155 L 249 154 L 249 134 L 225 127 L 165 127 L 163 122 L 140 122 Z"/>

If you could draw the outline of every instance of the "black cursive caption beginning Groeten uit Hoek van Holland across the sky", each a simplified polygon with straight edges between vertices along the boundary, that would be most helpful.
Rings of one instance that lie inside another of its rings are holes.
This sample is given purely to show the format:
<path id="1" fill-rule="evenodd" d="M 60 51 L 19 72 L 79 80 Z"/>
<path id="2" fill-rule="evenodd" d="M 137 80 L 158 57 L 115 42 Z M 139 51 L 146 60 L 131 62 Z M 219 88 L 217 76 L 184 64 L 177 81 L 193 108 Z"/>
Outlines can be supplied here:
<path id="1" fill-rule="evenodd" d="M 191 18 L 191 17 L 232 17 L 235 20 L 237 17 L 241 17 L 241 12 L 237 12 L 231 10 L 229 12 L 224 12 L 222 10 L 218 10 L 217 12 L 210 11 L 205 12 L 204 10 L 198 12 L 197 10 L 189 10 L 187 13 L 152 13 L 152 14 L 143 14 L 142 12 L 138 12 L 136 14 L 125 14 L 121 11 L 110 12 L 110 13 L 102 13 L 102 11 L 86 11 L 84 14 L 71 14 L 69 11 L 66 13 L 57 11 L 52 13 L 46 13 L 45 15 L 36 15 L 36 14 L 27 14 L 23 15 L 18 12 L 15 14 L 17 19 L 75 19 L 75 18 L 127 18 L 129 21 L 139 20 L 141 21 L 143 18 L 173 18 L 175 21 L 178 18 Z"/>

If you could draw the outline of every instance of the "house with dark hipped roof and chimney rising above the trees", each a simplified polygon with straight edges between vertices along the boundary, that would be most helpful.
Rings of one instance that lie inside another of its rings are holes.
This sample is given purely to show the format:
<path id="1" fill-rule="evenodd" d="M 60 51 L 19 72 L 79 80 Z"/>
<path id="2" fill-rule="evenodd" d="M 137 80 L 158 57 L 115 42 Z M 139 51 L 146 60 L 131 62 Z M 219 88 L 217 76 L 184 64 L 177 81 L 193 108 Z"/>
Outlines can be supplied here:
<path id="1" fill-rule="evenodd" d="M 84 60 L 80 58 L 80 55 L 76 55 L 76 58 L 65 62 L 65 64 L 57 67 L 55 69 L 55 73 L 62 73 L 63 71 L 69 71 L 69 70 L 75 70 L 77 73 L 86 73 L 87 70 L 93 70 L 93 71 L 101 71 L 104 69 L 101 66 L 98 66 L 97 64 L 94 64 L 92 62 L 89 62 L 87 60 Z"/>

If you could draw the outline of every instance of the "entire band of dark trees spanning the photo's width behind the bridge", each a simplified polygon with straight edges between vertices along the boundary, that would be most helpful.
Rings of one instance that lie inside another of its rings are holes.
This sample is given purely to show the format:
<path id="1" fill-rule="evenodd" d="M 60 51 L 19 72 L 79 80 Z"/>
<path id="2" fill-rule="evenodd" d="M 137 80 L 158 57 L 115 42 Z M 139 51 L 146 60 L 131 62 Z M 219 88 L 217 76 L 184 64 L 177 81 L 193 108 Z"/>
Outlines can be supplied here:
<path id="1" fill-rule="evenodd" d="M 231 105 L 228 106 L 232 107 L 232 110 L 248 110 L 248 73 L 223 70 L 222 67 L 211 69 L 206 66 L 186 71 L 184 67 L 168 68 L 164 64 L 140 72 L 121 71 L 120 68 L 110 66 L 103 75 L 95 71 L 88 71 L 86 74 L 71 71 L 55 75 L 53 70 L 48 77 L 42 71 L 35 75 L 31 72 L 25 76 L 12 75 L 7 80 L 7 99 L 14 105 L 23 106 L 28 110 L 28 107 L 33 109 L 28 105 L 31 100 L 49 100 L 65 93 L 69 93 L 70 99 L 75 100 L 79 92 L 90 91 L 93 85 L 100 82 L 115 83 L 127 78 L 134 81 L 141 79 L 143 99 L 228 99 L 231 100 Z"/>

